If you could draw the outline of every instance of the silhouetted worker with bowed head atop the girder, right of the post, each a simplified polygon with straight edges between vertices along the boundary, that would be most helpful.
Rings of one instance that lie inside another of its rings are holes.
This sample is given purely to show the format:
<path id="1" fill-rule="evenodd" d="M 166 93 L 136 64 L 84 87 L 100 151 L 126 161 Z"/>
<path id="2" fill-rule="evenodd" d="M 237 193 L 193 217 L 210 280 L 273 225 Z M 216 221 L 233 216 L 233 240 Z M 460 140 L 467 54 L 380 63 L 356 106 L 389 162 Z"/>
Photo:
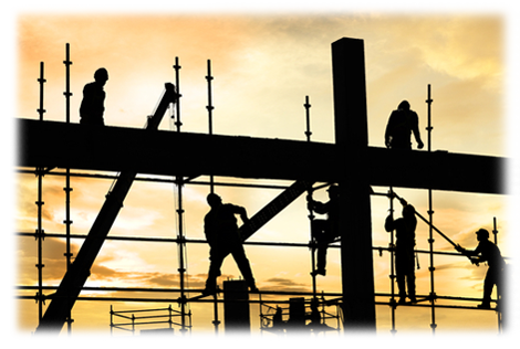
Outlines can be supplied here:
<path id="1" fill-rule="evenodd" d="M 419 118 L 410 110 L 407 101 L 401 102 L 397 110 L 393 110 L 385 130 L 385 145 L 391 149 L 412 149 L 410 136 L 414 134 L 417 148 L 423 149 L 420 140 Z"/>

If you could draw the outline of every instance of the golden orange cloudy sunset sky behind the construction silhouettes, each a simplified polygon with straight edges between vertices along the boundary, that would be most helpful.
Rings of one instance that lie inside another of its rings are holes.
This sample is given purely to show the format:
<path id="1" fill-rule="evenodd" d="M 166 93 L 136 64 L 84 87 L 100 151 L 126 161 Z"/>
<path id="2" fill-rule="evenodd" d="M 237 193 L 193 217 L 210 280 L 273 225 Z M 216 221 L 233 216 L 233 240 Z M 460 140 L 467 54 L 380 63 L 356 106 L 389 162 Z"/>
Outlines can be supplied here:
<path id="1" fill-rule="evenodd" d="M 386 121 L 403 99 L 417 112 L 426 144 L 425 99 L 430 84 L 433 150 L 520 158 L 519 2 L 12 1 L 8 4 L 2 1 L 2 6 L 9 9 L 9 117 L 39 118 L 37 80 L 40 62 L 44 62 L 44 119 L 65 120 L 63 61 L 69 43 L 73 62 L 72 123 L 80 120 L 83 86 L 103 66 L 110 75 L 105 86 L 105 125 L 142 128 L 160 97 L 164 83 L 175 82 L 173 65 L 177 56 L 181 65 L 183 131 L 208 131 L 205 76 L 207 60 L 211 60 L 215 134 L 304 140 L 303 104 L 308 95 L 312 105 L 312 140 L 334 142 L 331 43 L 346 36 L 364 40 L 370 146 L 384 147 Z M 160 128 L 175 129 L 167 116 Z M 157 151 L 164 154 L 165 161 L 175 162 L 175 152 L 183 149 Z M 468 169 L 467 176 L 478 170 L 478 167 Z M 246 182 L 231 178 L 217 180 Z M 112 181 L 74 177 L 71 182 L 72 233 L 86 234 Z M 65 232 L 63 187 L 63 177 L 44 178 L 46 233 Z M 387 192 L 388 188 L 374 190 Z M 427 215 L 426 191 L 395 190 Z M 216 191 L 225 202 L 245 207 L 250 216 L 280 192 L 231 187 L 217 187 Z M 189 239 L 204 239 L 208 192 L 206 186 L 184 188 L 185 234 Z M 135 182 L 111 235 L 175 237 L 177 194 L 171 183 Z M 324 190 L 315 193 L 318 200 L 326 198 Z M 37 200 L 33 174 L 9 174 L 10 232 L 34 232 Z M 372 198 L 374 246 L 388 245 L 388 234 L 383 228 L 387 210 L 386 198 Z M 436 191 L 434 210 L 435 225 L 468 248 L 477 245 L 475 231 L 480 228 L 491 231 L 497 218 L 502 255 L 520 257 L 520 198 Z M 305 200 L 301 197 L 251 240 L 306 243 L 309 234 Z M 435 239 L 436 250 L 454 251 L 439 235 Z M 417 248 L 428 250 L 427 240 L 428 228 L 419 222 Z M 81 242 L 73 240 L 74 255 Z M 8 244 L 9 285 L 38 285 L 34 239 L 11 236 Z M 311 290 L 308 248 L 247 245 L 246 251 L 260 290 Z M 59 285 L 64 273 L 64 252 L 63 240 L 45 239 L 44 285 Z M 178 287 L 177 255 L 174 244 L 107 241 L 86 285 L 175 288 Z M 486 265 L 477 267 L 464 257 L 453 256 L 436 256 L 435 261 L 437 295 L 481 297 Z M 428 256 L 419 255 L 419 262 L 417 293 L 427 295 Z M 520 262 L 512 264 L 520 283 Z M 374 266 L 376 293 L 389 292 L 388 254 L 374 253 Z M 190 288 L 204 287 L 207 268 L 207 245 L 188 245 Z M 222 274 L 239 276 L 231 258 L 223 264 Z M 318 281 L 320 292 L 341 290 L 337 248 L 330 250 L 327 275 Z M 35 292 L 10 290 L 9 294 L 34 295 Z M 82 295 L 135 296 L 108 292 Z M 178 294 L 166 296 L 176 298 Z M 168 303 L 77 302 L 73 310 L 73 339 L 110 340 L 111 305 L 116 310 L 126 310 Z M 212 305 L 190 304 L 189 308 L 194 340 L 214 340 Z M 387 306 L 376 307 L 378 340 L 392 339 L 389 313 Z M 258 340 L 258 306 L 251 308 L 251 317 L 252 339 Z M 437 340 L 497 340 L 495 311 L 437 309 L 436 318 Z M 430 340 L 428 308 L 399 307 L 396 324 L 397 340 Z M 38 305 L 33 299 L 9 300 L 10 340 L 29 339 L 37 326 Z M 275 340 L 275 337 L 266 335 L 264 339 Z M 335 334 L 329 335 L 329 340 L 336 339 Z M 65 329 L 59 340 L 66 340 Z"/>

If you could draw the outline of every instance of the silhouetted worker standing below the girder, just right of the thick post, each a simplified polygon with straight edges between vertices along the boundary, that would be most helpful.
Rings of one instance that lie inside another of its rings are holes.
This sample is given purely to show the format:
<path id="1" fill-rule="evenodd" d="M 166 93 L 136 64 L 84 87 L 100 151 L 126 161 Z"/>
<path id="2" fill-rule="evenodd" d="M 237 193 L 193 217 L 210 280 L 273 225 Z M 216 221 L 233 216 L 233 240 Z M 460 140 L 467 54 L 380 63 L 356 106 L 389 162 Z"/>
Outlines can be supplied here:
<path id="1" fill-rule="evenodd" d="M 408 298 L 416 303 L 415 298 L 415 229 L 417 219 L 415 209 L 404 199 L 399 199 L 403 205 L 403 218 L 394 220 L 391 213 L 385 221 L 387 232 L 396 231 L 395 242 L 395 273 L 397 288 L 399 289 L 399 303 L 406 303 L 406 286 L 408 287 Z"/>

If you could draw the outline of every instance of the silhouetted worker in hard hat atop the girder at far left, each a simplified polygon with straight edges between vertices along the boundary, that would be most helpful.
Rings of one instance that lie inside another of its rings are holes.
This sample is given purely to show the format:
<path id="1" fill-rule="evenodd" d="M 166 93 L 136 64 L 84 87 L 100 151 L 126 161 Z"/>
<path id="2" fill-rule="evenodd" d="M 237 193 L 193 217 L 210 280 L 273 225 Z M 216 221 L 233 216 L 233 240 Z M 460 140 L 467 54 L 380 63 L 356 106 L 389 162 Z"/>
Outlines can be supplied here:
<path id="1" fill-rule="evenodd" d="M 94 73 L 94 82 L 83 87 L 83 101 L 80 106 L 80 124 L 104 126 L 103 113 L 105 112 L 105 86 L 108 72 L 101 67 Z"/>

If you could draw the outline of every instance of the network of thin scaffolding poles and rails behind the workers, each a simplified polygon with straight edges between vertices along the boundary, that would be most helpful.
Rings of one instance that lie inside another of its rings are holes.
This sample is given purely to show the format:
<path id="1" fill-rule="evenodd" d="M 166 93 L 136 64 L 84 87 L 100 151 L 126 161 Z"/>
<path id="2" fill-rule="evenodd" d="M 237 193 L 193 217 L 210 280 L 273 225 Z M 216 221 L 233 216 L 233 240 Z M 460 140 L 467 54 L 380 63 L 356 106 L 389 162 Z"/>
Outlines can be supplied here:
<path id="1" fill-rule="evenodd" d="M 70 65 L 72 62 L 70 61 L 70 46 L 66 44 L 66 57 L 65 61 L 63 62 L 65 64 L 65 110 L 66 110 L 66 123 L 70 123 L 70 96 L 72 96 L 72 93 L 70 92 Z M 211 81 L 214 77 L 211 76 L 211 62 L 208 60 L 208 72 L 207 72 L 207 84 L 208 84 L 208 106 L 207 112 L 208 112 L 208 119 L 209 119 L 209 134 L 212 135 L 212 110 L 215 107 L 212 106 L 212 99 L 211 99 Z M 179 71 L 180 71 L 180 65 L 178 57 L 175 59 L 175 73 L 176 73 L 176 86 L 178 88 L 179 97 L 181 97 L 180 94 L 180 88 L 179 88 Z M 45 109 L 43 108 L 43 89 L 44 89 L 44 64 L 41 62 L 41 70 L 40 70 L 40 78 L 38 78 L 38 82 L 40 83 L 40 108 L 38 109 L 38 113 L 40 115 L 40 120 L 43 120 L 43 113 L 45 113 Z M 428 131 L 428 151 L 431 151 L 431 94 L 430 94 L 430 85 L 428 85 L 427 89 L 427 113 L 428 113 L 428 126 L 427 126 L 427 131 Z M 310 103 L 309 103 L 309 96 L 305 96 L 305 103 L 304 103 L 304 108 L 305 108 L 305 123 L 306 123 L 306 130 L 304 131 L 304 135 L 306 136 L 306 140 L 310 142 L 311 141 L 311 128 L 310 128 Z M 183 123 L 180 121 L 180 102 L 177 103 L 176 105 L 176 112 L 175 112 L 175 118 L 176 118 L 176 131 L 180 133 L 180 128 Z M 174 119 L 174 117 L 171 118 Z M 84 172 L 71 172 L 70 169 L 64 169 L 64 171 L 61 170 L 55 170 L 54 168 L 35 168 L 35 170 L 31 171 L 28 169 L 17 169 L 17 168 L 10 168 L 10 173 L 20 173 L 20 174 L 35 174 L 38 178 L 38 201 L 37 207 L 38 207 L 38 228 L 35 230 L 35 233 L 30 233 L 30 232 L 9 232 L 10 236 L 25 236 L 25 237 L 35 237 L 37 243 L 38 243 L 38 286 L 31 286 L 31 285 L 10 285 L 9 289 L 10 290 L 37 290 L 35 296 L 27 296 L 27 295 L 10 295 L 10 299 L 35 299 L 35 303 L 38 304 L 39 308 L 39 321 L 42 319 L 42 314 L 43 314 L 43 305 L 46 299 L 51 298 L 51 295 L 44 295 L 44 292 L 53 292 L 58 287 L 55 286 L 43 286 L 43 241 L 45 237 L 58 237 L 58 239 L 64 239 L 65 240 L 65 265 L 66 267 L 70 266 L 71 261 L 72 261 L 72 253 L 71 253 L 71 240 L 72 239 L 77 239 L 77 240 L 84 240 L 86 235 L 81 235 L 81 234 L 72 234 L 71 233 L 71 224 L 73 221 L 71 220 L 71 198 L 70 193 L 73 190 L 71 188 L 71 178 L 72 177 L 81 177 L 81 178 L 96 178 L 96 179 L 116 179 L 116 176 L 113 174 L 106 174 L 106 173 L 84 173 Z M 65 224 L 65 234 L 60 234 L 60 233 L 45 233 L 42 226 L 42 205 L 44 204 L 43 198 L 42 198 L 42 187 L 43 187 L 43 177 L 44 176 L 59 176 L 59 177 L 64 177 L 65 178 L 65 187 L 63 190 L 65 191 L 65 220 L 63 223 Z M 202 298 L 188 298 L 187 295 L 189 293 L 200 293 L 201 289 L 194 289 L 189 288 L 186 285 L 186 279 L 187 279 L 187 244 L 206 244 L 205 240 L 197 240 L 197 239 L 188 239 L 186 237 L 185 231 L 186 226 L 184 223 L 184 191 L 183 189 L 186 186 L 205 186 L 210 188 L 210 192 L 214 192 L 214 188 L 217 186 L 220 187 L 241 187 L 241 188 L 256 188 L 256 189 L 274 189 L 274 190 L 284 190 L 288 187 L 287 186 L 280 186 L 280 184 L 258 184 L 258 183 L 229 183 L 229 182 L 216 182 L 214 179 L 214 176 L 209 176 L 209 181 L 204 181 L 204 180 L 196 180 L 196 178 L 185 178 L 183 176 L 176 176 L 174 178 L 149 178 L 149 177 L 136 177 L 136 181 L 143 181 L 143 182 L 162 182 L 162 183 L 170 183 L 174 186 L 174 191 L 177 191 L 177 202 L 176 202 L 176 213 L 177 213 L 177 236 L 176 237 L 139 237 L 139 236 L 107 236 L 106 240 L 118 240 L 118 241 L 132 241 L 132 242 L 156 242 L 156 243 L 171 243 L 176 244 L 178 247 L 178 273 L 179 273 L 179 288 L 145 288 L 145 287 L 83 287 L 82 289 L 84 290 L 112 290 L 112 292 L 125 292 L 125 293 L 156 293 L 156 294 L 166 294 L 166 295 L 171 295 L 176 294 L 178 297 L 153 297 L 153 298 L 146 298 L 146 297 L 90 297 L 90 296 L 80 296 L 79 300 L 107 300 L 107 302 L 139 302 L 139 303 L 178 303 L 180 310 L 174 310 L 171 306 L 166 308 L 167 311 L 169 311 L 169 317 L 168 320 L 166 321 L 169 324 L 169 328 L 171 328 L 171 325 L 175 324 L 178 326 L 178 332 L 180 336 L 175 336 L 175 340 L 191 340 L 191 310 L 189 309 L 189 303 L 212 303 L 214 304 L 214 320 L 212 325 L 215 327 L 215 340 L 219 340 L 219 325 L 221 324 L 220 317 L 219 317 L 219 309 L 218 305 L 221 304 L 223 300 L 219 298 L 218 294 L 216 294 L 212 299 L 202 299 Z M 308 188 L 308 193 L 312 194 L 314 190 L 321 189 L 323 187 L 329 186 L 330 183 L 319 183 L 316 187 L 310 187 Z M 391 198 L 389 200 L 389 210 L 391 212 L 394 211 L 393 207 L 393 190 L 394 188 L 389 188 L 388 193 L 375 193 L 373 192 L 373 195 L 385 195 L 387 198 Z M 453 309 L 477 309 L 474 306 L 460 306 L 460 305 L 441 305 L 437 304 L 436 302 L 438 299 L 444 299 L 444 300 L 457 300 L 457 302 L 480 302 L 480 298 L 469 298 L 469 297 L 450 297 L 450 296 L 440 296 L 437 295 L 435 292 L 435 279 L 434 279 L 434 272 L 435 272 L 435 264 L 434 264 L 434 256 L 435 255 L 451 255 L 451 256 L 461 256 L 459 253 L 450 253 L 450 252 L 443 252 L 443 251 L 436 251 L 434 246 L 434 211 L 433 211 L 433 191 L 431 189 L 428 189 L 428 220 L 425 221 L 428 224 L 429 228 L 429 250 L 427 251 L 422 251 L 422 250 L 415 250 L 416 254 L 426 254 L 429 257 L 429 267 L 428 271 L 430 273 L 430 292 L 427 295 L 417 295 L 420 300 L 417 304 L 406 304 L 403 305 L 404 307 L 428 307 L 430 309 L 430 329 L 431 329 L 431 340 L 437 340 L 436 336 L 436 328 L 437 328 L 437 320 L 436 320 L 436 309 L 438 308 L 453 308 Z M 309 219 L 312 221 L 314 219 L 312 211 L 309 212 Z M 498 230 L 497 230 L 497 220 L 496 218 L 493 219 L 493 235 L 495 235 L 495 243 L 498 244 Z M 389 254 L 389 278 L 391 278 L 391 292 L 389 293 L 375 293 L 375 299 L 387 299 L 387 300 L 376 300 L 375 304 L 378 306 L 388 306 L 391 309 L 391 319 L 392 319 L 392 325 L 391 325 L 391 336 L 392 340 L 395 341 L 397 340 L 396 334 L 396 324 L 395 324 L 395 317 L 396 317 L 396 309 L 397 307 L 402 305 L 397 305 L 395 300 L 395 269 L 394 269 L 394 262 L 395 262 L 395 244 L 394 244 L 394 234 L 389 234 L 389 243 L 388 246 L 373 246 L 374 252 L 378 252 L 379 256 L 383 255 L 383 252 L 388 252 Z M 281 336 L 279 331 L 273 330 L 273 311 L 277 306 L 279 305 L 287 305 L 288 300 L 285 299 L 279 299 L 279 300 L 262 300 L 261 296 L 274 296 L 274 297 L 290 297 L 290 296 L 308 296 L 310 297 L 308 300 L 305 300 L 306 306 L 311 306 L 312 302 L 319 302 L 319 305 L 321 306 L 321 318 L 322 320 L 326 324 L 327 321 L 335 321 L 336 324 L 334 326 L 330 326 L 326 330 L 321 330 L 321 331 L 312 331 L 314 334 L 314 340 L 319 340 L 318 335 L 320 332 L 323 334 L 322 340 L 327 340 L 326 332 L 327 331 L 337 331 L 339 339 L 340 338 L 340 332 L 342 330 L 342 321 L 340 321 L 341 318 L 341 294 L 340 293 L 324 293 L 324 292 L 319 292 L 318 290 L 318 282 L 316 282 L 316 276 L 314 273 L 314 251 L 316 248 L 315 242 L 312 240 L 312 236 L 309 241 L 309 243 L 288 243 L 288 242 L 245 242 L 246 245 L 259 245 L 259 246 L 284 246 L 284 247 L 303 247 L 308 248 L 311 253 L 311 265 L 312 265 L 312 271 L 311 271 L 311 276 L 312 276 L 312 292 L 270 292 L 270 290 L 262 290 L 261 295 L 259 296 L 259 299 L 250 299 L 250 304 L 259 304 L 260 306 L 260 332 L 261 332 L 261 340 L 263 340 L 263 332 L 268 331 L 271 334 L 275 334 L 278 336 L 278 339 L 281 340 Z M 330 245 L 330 248 L 339 248 L 340 245 L 333 243 Z M 508 261 L 520 261 L 518 257 L 505 257 L 505 260 Z M 327 299 L 325 299 L 327 297 Z M 493 299 L 496 302 L 496 299 Z M 429 304 L 425 304 L 429 303 Z M 334 306 L 336 309 L 335 314 L 326 311 L 326 307 Z M 148 309 L 148 310 L 139 310 L 139 311 L 152 311 L 154 309 Z M 156 310 L 156 309 L 155 309 Z M 287 308 L 282 309 L 282 316 L 287 315 L 284 313 Z M 496 309 L 490 309 L 491 311 L 496 311 Z M 128 311 L 137 311 L 137 310 L 128 310 Z M 138 325 L 136 321 L 138 317 L 134 317 L 132 315 L 131 322 L 129 324 L 114 324 L 113 318 L 114 317 L 125 317 L 123 316 L 123 313 L 125 311 L 114 311 L 111 307 L 111 340 L 135 340 L 137 339 L 137 336 L 135 336 L 135 326 Z M 497 311 L 498 315 L 498 334 L 497 338 L 499 340 L 502 339 L 501 335 L 501 326 L 500 326 L 500 314 Z M 173 316 L 178 317 L 179 321 L 174 322 L 173 321 Z M 72 340 L 72 314 L 69 315 L 66 319 L 67 324 L 67 340 Z M 121 329 L 121 330 L 128 330 L 126 327 L 129 326 L 132 329 L 132 336 L 115 336 L 114 330 L 115 329 Z"/>

